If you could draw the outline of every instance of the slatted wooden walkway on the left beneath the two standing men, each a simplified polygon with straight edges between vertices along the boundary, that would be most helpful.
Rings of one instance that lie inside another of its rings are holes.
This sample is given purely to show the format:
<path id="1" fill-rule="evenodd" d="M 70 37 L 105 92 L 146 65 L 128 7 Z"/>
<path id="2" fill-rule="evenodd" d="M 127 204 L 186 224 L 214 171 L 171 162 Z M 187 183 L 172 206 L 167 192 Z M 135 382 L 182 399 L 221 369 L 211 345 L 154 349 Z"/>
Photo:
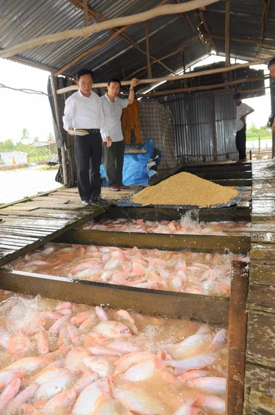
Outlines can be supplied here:
<path id="1" fill-rule="evenodd" d="M 139 188 L 132 186 L 130 190 L 111 192 L 103 187 L 102 197 L 115 203 Z M 110 208 L 111 204 L 84 208 L 76 187 L 61 188 L 0 208 L 0 266 Z"/>

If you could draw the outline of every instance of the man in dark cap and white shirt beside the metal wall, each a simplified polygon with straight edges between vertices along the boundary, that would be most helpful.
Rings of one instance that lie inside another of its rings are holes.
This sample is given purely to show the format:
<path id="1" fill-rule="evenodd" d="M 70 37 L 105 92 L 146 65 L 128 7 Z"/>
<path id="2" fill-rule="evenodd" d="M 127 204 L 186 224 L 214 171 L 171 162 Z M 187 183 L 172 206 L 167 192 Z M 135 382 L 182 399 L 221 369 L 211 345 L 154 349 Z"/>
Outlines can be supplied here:
<path id="1" fill-rule="evenodd" d="M 244 104 L 241 100 L 240 92 L 234 93 L 234 101 L 236 104 L 236 147 L 238 150 L 238 160 L 237 163 L 243 163 L 247 161 L 246 154 L 246 118 L 249 114 L 254 112 L 252 107 Z"/>

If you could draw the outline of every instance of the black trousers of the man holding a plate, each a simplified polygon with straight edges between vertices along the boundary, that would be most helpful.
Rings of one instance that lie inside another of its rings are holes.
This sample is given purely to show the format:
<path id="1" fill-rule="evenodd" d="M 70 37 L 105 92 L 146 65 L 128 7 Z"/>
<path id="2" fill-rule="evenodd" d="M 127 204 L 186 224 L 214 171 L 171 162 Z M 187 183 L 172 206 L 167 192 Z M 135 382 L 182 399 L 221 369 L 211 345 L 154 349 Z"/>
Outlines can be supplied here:
<path id="1" fill-rule="evenodd" d="M 101 192 L 102 138 L 100 132 L 87 131 L 87 136 L 75 136 L 77 187 L 82 201 L 95 200 Z"/>

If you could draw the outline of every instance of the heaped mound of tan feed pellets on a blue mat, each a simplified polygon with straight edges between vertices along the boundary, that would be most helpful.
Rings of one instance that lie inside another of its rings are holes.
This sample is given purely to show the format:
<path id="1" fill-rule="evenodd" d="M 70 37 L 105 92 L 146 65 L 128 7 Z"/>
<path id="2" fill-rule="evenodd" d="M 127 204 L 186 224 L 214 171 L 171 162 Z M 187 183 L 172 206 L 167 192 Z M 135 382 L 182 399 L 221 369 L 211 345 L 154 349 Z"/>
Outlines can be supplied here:
<path id="1" fill-rule="evenodd" d="M 235 187 L 220 186 L 191 173 L 179 173 L 133 195 L 140 205 L 191 205 L 209 208 L 238 196 Z"/>

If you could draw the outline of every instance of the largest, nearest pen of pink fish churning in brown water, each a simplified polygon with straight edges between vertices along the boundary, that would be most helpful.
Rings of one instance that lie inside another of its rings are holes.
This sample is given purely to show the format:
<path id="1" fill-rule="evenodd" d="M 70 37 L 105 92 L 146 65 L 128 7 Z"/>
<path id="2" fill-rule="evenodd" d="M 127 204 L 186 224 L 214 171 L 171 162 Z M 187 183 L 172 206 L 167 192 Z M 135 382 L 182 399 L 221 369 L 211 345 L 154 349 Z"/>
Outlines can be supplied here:
<path id="1" fill-rule="evenodd" d="M 0 300 L 1 414 L 225 414 L 225 329 L 3 291 Z"/>

